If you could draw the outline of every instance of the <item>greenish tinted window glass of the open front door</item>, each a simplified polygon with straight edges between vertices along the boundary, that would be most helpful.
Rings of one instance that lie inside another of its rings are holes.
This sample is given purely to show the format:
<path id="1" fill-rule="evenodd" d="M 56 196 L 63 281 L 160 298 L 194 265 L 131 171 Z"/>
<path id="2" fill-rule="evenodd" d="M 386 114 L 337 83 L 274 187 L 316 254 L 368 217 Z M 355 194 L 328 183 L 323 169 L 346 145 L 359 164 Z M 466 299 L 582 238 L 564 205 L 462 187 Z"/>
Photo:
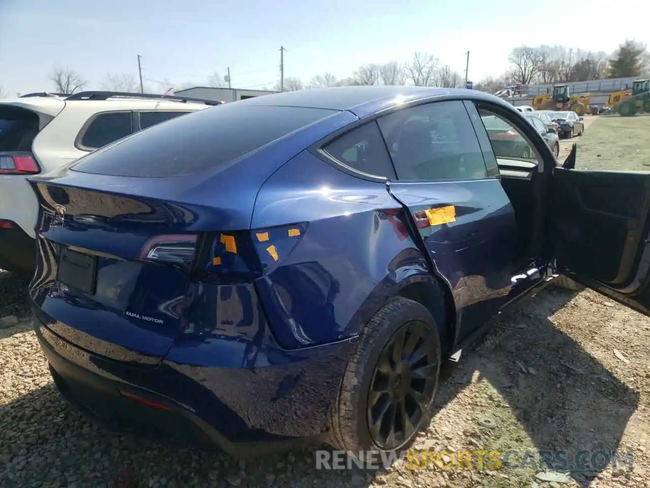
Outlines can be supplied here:
<path id="1" fill-rule="evenodd" d="M 650 171 L 650 114 L 597 117 L 578 141 L 577 169 Z"/>

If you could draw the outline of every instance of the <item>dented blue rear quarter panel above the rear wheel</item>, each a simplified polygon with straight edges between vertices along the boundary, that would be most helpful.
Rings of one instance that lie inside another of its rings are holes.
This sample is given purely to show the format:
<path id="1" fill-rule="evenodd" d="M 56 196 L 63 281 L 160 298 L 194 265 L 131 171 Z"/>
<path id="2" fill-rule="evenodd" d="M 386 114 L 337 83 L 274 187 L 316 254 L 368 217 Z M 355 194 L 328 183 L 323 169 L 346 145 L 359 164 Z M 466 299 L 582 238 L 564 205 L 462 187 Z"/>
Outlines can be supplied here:
<path id="1" fill-rule="evenodd" d="M 357 334 L 389 295 L 428 273 L 400 219 L 384 182 L 355 178 L 306 151 L 265 182 L 253 229 L 308 223 L 291 254 L 255 282 L 282 347 Z"/>

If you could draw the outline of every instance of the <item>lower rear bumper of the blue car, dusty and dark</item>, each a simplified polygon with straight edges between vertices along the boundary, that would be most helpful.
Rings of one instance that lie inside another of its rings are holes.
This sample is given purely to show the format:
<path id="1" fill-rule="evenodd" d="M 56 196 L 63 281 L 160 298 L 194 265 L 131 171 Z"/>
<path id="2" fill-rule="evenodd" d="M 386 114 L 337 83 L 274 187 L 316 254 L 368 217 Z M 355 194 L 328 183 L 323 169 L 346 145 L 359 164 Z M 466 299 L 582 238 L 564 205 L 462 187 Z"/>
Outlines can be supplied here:
<path id="1" fill-rule="evenodd" d="M 128 366 L 73 346 L 38 319 L 34 330 L 64 398 L 107 426 L 257 455 L 323 441 L 354 339 L 266 355 L 259 367 Z M 216 355 L 232 353 L 213 344 Z M 156 406 L 134 401 L 155 402 Z M 162 405 L 162 407 L 161 407 Z"/>

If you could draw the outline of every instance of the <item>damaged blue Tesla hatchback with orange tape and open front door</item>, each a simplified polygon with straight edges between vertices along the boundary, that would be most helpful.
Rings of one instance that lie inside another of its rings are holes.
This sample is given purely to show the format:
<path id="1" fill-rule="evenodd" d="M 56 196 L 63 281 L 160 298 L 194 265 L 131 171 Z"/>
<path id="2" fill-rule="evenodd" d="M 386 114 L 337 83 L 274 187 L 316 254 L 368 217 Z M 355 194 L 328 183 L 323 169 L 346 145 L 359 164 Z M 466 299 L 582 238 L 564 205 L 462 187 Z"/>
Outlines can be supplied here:
<path id="1" fill-rule="evenodd" d="M 559 273 L 647 314 L 650 177 L 574 165 L 474 90 L 178 117 L 31 178 L 34 329 L 61 394 L 109 426 L 403 450 L 441 362 Z"/>

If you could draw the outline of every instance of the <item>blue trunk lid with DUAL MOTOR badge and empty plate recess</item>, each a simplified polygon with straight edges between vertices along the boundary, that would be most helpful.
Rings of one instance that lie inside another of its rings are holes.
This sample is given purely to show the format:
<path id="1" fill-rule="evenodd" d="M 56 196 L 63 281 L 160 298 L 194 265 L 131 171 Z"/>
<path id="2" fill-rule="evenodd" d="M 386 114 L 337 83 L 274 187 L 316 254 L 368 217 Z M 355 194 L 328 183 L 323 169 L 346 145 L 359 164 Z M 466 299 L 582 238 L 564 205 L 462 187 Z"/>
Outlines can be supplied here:
<path id="1" fill-rule="evenodd" d="M 186 238 L 202 210 L 32 184 L 43 209 L 31 286 L 40 319 L 88 351 L 129 362 L 156 362 L 183 326 L 191 273 L 183 262 L 162 264 L 146 260 L 146 255 L 160 236 L 177 236 L 192 247 Z"/>

